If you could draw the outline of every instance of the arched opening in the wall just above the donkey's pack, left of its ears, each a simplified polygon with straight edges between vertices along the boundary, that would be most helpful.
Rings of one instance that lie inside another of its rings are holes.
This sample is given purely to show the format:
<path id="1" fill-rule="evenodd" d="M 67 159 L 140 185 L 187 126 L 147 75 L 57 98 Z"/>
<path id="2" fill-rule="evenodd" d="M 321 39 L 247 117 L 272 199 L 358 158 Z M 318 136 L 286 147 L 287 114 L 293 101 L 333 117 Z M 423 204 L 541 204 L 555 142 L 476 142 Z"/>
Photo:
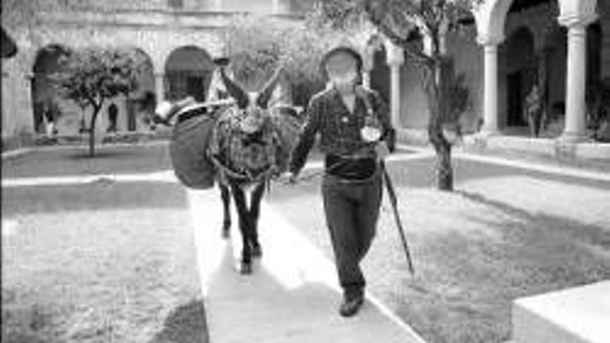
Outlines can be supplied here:
<path id="1" fill-rule="evenodd" d="M 195 100 L 205 100 L 214 71 L 214 62 L 207 51 L 194 45 L 181 46 L 168 55 L 164 68 L 166 99 L 190 95 Z"/>

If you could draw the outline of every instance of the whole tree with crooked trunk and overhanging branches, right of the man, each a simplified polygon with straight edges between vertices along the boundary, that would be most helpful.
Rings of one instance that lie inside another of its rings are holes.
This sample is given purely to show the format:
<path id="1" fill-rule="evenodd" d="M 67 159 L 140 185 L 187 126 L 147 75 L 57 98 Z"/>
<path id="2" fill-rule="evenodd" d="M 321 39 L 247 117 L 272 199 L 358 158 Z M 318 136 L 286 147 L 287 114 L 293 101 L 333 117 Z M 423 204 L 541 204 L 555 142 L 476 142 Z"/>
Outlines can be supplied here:
<path id="1" fill-rule="evenodd" d="M 469 10 L 483 0 L 327 0 L 318 3 L 318 12 L 333 28 L 343 29 L 365 17 L 408 58 L 424 71 L 423 88 L 430 105 L 428 137 L 437 154 L 437 187 L 453 190 L 451 143 L 444 137 L 443 124 L 455 117 L 451 103 L 455 76 L 451 56 L 444 50 L 444 37 L 458 30 Z M 413 44 L 413 37 L 424 44 Z M 423 46 L 426 46 L 424 49 Z"/>

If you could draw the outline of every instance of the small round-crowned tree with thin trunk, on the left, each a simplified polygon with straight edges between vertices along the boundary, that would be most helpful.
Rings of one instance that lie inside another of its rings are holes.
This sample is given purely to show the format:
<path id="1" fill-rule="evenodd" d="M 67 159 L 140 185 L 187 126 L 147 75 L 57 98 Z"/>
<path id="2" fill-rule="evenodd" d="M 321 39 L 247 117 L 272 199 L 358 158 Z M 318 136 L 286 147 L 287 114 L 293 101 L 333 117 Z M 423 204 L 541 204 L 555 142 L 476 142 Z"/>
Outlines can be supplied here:
<path id="1" fill-rule="evenodd" d="M 107 99 L 128 96 L 138 87 L 146 60 L 134 50 L 89 48 L 69 51 L 60 58 L 62 71 L 54 79 L 64 98 L 91 107 L 89 154 L 95 155 L 95 125 Z"/>

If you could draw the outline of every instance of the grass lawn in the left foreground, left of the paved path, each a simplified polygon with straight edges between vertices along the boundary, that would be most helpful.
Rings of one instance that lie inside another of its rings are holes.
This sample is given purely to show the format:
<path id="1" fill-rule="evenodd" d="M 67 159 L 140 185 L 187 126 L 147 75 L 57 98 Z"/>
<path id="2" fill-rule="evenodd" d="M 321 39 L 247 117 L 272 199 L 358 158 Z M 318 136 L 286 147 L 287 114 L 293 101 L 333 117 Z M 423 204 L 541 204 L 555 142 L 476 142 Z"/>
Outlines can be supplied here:
<path id="1" fill-rule="evenodd" d="M 2 342 L 206 341 L 182 186 L 3 188 L 2 210 Z"/>

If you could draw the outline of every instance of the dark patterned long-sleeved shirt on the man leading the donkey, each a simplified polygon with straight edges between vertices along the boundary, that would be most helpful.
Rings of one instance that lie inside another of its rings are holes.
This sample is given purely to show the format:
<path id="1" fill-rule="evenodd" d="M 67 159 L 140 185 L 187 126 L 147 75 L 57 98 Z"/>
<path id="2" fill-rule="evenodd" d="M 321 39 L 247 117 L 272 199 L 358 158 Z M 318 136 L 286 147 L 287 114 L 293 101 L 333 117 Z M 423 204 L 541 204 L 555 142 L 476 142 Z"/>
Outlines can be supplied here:
<path id="1" fill-rule="evenodd" d="M 382 138 L 390 150 L 394 148 L 394 130 L 390 124 L 387 105 L 375 91 L 367 90 L 367 97 L 374 116 L 383 127 Z M 309 150 L 320 133 L 320 150 L 326 155 L 375 156 L 375 143 L 363 141 L 360 129 L 365 125 L 367 105 L 356 96 L 354 113 L 349 112 L 336 89 L 326 89 L 311 98 L 307 107 L 307 120 L 290 161 L 290 172 L 299 173 L 303 168 Z"/>

